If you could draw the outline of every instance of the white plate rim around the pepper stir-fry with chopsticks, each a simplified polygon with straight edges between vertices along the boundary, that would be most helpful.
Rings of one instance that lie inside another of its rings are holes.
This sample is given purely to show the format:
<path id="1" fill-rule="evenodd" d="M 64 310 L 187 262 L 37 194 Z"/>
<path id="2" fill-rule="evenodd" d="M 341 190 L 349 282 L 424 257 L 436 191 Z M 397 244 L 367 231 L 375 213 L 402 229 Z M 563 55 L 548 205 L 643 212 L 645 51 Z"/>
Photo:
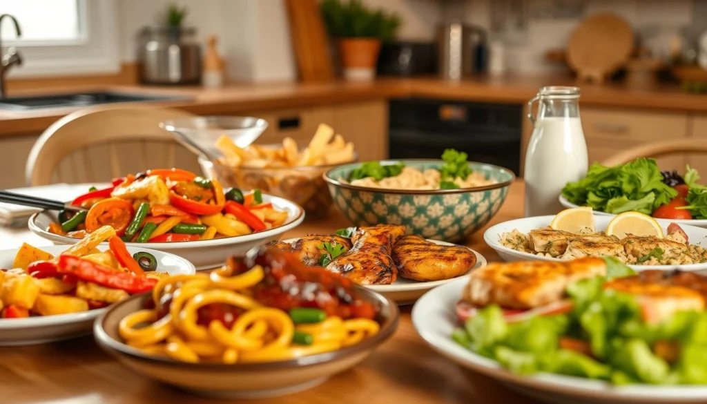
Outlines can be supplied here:
<path id="1" fill-rule="evenodd" d="M 295 202 L 291 202 L 281 197 L 274 197 L 272 195 L 263 194 L 262 197 L 264 202 L 272 202 L 274 207 L 286 210 L 288 212 L 293 212 L 293 214 L 288 217 L 288 220 L 282 226 L 265 231 L 259 231 L 258 233 L 245 234 L 244 236 L 214 238 L 212 240 L 178 241 L 175 243 L 126 243 L 126 245 L 129 247 L 151 248 L 154 250 L 180 250 L 182 248 L 228 246 L 231 244 L 247 243 L 249 241 L 257 241 L 264 238 L 277 236 L 278 234 L 299 226 L 299 224 L 305 219 L 304 209 L 302 209 L 302 207 Z M 37 234 L 37 236 L 63 244 L 75 244 L 78 242 L 78 238 L 59 236 L 58 234 L 49 233 L 49 231 L 42 229 L 42 227 L 36 223 L 37 218 L 39 218 L 40 215 L 47 216 L 48 214 L 46 211 L 35 213 L 32 217 L 30 217 L 28 222 L 30 230 Z"/>

